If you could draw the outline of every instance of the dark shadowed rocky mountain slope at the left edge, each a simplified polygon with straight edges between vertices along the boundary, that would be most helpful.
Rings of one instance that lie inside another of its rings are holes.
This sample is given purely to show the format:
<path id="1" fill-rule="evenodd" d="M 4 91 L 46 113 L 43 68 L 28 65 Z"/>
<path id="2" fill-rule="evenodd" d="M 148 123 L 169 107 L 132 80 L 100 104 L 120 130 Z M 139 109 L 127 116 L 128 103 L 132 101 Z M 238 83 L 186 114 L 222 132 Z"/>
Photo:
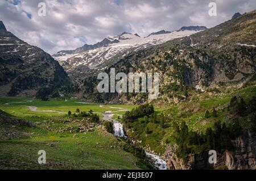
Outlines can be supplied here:
<path id="1" fill-rule="evenodd" d="M 71 81 L 64 69 L 48 53 L 27 44 L 8 32 L 0 22 L 1 96 L 35 95 L 68 91 Z"/>

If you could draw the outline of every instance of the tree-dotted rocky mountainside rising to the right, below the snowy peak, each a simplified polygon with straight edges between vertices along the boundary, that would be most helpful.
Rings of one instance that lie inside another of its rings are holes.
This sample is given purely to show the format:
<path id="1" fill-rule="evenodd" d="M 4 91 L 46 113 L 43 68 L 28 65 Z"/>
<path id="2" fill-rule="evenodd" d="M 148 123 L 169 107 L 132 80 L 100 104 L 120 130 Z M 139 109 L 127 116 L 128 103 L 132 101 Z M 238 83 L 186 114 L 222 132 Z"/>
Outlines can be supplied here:
<path id="1" fill-rule="evenodd" d="M 110 68 L 126 74 L 158 72 L 159 98 L 167 102 L 185 99 L 191 88 L 207 91 L 216 86 L 241 86 L 255 75 L 255 24 L 256 11 L 252 11 L 208 30 L 129 53 Z M 132 103 L 147 100 L 138 94 L 129 99 L 126 94 L 107 97 Z"/>

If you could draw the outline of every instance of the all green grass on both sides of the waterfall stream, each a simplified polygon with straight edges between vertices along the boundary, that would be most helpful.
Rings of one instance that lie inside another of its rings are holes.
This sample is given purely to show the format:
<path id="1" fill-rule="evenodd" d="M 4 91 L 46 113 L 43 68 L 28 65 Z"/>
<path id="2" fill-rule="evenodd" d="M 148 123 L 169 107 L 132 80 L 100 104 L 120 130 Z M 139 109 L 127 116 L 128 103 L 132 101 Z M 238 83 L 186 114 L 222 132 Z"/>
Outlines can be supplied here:
<path id="1" fill-rule="evenodd" d="M 251 96 L 255 96 L 255 93 L 255 85 L 228 90 L 221 94 L 209 95 L 208 92 L 199 92 L 185 102 L 155 107 L 158 114 L 163 113 L 168 117 L 165 128 L 156 123 L 134 122 L 129 125 L 127 133 L 129 137 L 142 141 L 142 146 L 163 154 L 166 145 L 175 142 L 172 128 L 174 122 L 180 124 L 181 121 L 185 121 L 188 123 L 189 129 L 203 133 L 205 129 L 212 127 L 216 120 L 226 120 L 228 110 L 225 105 L 229 104 L 232 96 L 236 95 L 238 98 L 242 96 L 247 101 Z M 59 127 L 65 126 L 61 121 L 64 119 L 65 113 L 32 112 L 29 108 L 24 107 L 36 106 L 38 110 L 42 111 L 71 111 L 72 113 L 79 108 L 80 111 L 93 110 L 101 117 L 105 111 L 113 111 L 114 118 L 117 119 L 118 115 L 125 113 L 120 108 L 131 110 L 136 107 L 135 105 L 81 104 L 79 102 L 82 101 L 79 99 L 27 102 L 31 99 L 0 98 L 0 109 L 5 112 L 34 123 L 42 123 L 35 129 L 22 128 L 33 132 L 32 137 L 0 141 L 0 169 L 148 169 L 138 158 L 126 153 L 122 148 L 125 143 L 112 134 L 104 133 L 102 129 L 96 129 L 94 132 L 86 134 L 77 133 L 78 137 L 74 138 L 74 133 L 58 132 Z M 9 102 L 18 103 L 5 104 Z M 199 104 L 199 109 L 193 111 L 191 108 L 197 104 Z M 213 108 L 218 107 L 223 107 L 217 111 L 218 117 L 204 118 L 206 110 L 212 114 Z M 46 129 L 45 125 L 51 130 Z M 68 126 L 77 127 L 76 123 Z M 150 133 L 146 133 L 146 127 Z M 54 146 L 49 146 L 51 144 Z M 47 165 L 41 166 L 37 163 L 39 156 L 37 151 L 41 149 L 47 151 L 49 161 Z"/>

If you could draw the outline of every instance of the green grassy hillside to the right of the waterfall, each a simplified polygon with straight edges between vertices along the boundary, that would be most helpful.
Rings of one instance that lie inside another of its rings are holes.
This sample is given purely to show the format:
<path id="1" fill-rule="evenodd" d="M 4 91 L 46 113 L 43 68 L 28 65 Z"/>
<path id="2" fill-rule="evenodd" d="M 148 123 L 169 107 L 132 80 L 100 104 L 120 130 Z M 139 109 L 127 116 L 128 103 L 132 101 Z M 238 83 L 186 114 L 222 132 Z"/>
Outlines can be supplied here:
<path id="1" fill-rule="evenodd" d="M 209 92 L 201 92 L 193 94 L 191 98 L 180 102 L 179 104 L 172 104 L 170 106 L 155 107 L 156 112 L 162 113 L 168 117 L 166 120 L 166 127 L 160 128 L 159 124 L 155 123 L 129 123 L 129 136 L 134 139 L 141 140 L 142 145 L 150 147 L 156 153 L 163 154 L 166 150 L 167 144 L 172 144 L 174 140 L 174 129 L 172 125 L 174 122 L 180 124 L 185 121 L 189 129 L 204 133 L 208 127 L 213 127 L 217 120 L 222 122 L 229 120 L 229 112 L 225 106 L 228 106 L 232 96 L 236 95 L 238 98 L 241 96 L 248 101 L 252 96 L 256 96 L 256 86 L 243 87 L 242 89 L 233 89 L 222 91 L 221 94 L 212 94 Z M 193 111 L 193 107 L 199 105 L 199 109 Z M 212 116 L 213 108 L 220 108 L 217 111 L 217 117 Z M 210 117 L 205 119 L 205 111 L 210 112 Z M 150 133 L 146 133 L 146 127 L 149 128 Z"/>

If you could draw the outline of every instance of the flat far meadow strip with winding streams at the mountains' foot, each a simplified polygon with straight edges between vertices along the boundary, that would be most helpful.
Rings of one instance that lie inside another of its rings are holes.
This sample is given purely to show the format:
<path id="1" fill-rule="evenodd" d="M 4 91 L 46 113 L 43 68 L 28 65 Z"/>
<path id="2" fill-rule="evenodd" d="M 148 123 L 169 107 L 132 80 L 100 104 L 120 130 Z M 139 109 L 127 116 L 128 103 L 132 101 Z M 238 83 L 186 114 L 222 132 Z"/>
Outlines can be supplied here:
<path id="1" fill-rule="evenodd" d="M 27 100 L 32 100 L 32 102 L 27 102 Z M 10 104 L 6 104 L 10 103 Z M 56 112 L 32 112 L 26 106 L 35 106 L 37 111 L 60 111 L 63 113 Z M 105 111 L 117 111 L 114 115 L 123 115 L 125 111 L 119 111 L 119 108 L 125 110 L 131 110 L 136 107 L 134 105 L 104 105 L 102 104 L 82 104 L 79 99 L 63 100 L 63 99 L 53 99 L 48 101 L 41 101 L 38 99 L 33 100 L 32 98 L 20 98 L 20 97 L 3 97 L 0 98 L 0 109 L 7 113 L 11 113 L 15 117 L 21 117 L 30 121 L 43 120 L 45 118 L 64 116 L 68 111 L 75 113 L 76 109 L 79 108 L 80 111 L 90 111 L 98 113 L 101 115 Z"/>

